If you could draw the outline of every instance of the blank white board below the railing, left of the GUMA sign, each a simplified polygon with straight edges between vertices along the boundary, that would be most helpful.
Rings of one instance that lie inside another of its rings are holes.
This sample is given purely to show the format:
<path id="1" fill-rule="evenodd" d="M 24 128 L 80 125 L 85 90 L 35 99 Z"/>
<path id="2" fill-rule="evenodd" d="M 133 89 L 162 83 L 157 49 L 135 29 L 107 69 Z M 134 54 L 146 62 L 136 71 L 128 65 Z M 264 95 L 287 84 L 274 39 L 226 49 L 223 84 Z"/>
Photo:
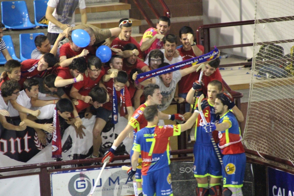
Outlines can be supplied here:
<path id="1" fill-rule="evenodd" d="M 40 196 L 39 175 L 0 179 L 0 195 Z"/>

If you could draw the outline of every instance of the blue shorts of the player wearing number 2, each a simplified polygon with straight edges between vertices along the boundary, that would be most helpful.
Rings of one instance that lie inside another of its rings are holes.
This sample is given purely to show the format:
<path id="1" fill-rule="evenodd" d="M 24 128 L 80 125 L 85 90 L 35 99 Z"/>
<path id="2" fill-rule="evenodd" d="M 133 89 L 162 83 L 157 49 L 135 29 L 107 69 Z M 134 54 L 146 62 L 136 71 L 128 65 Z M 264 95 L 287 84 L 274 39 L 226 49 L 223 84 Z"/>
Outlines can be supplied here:
<path id="1" fill-rule="evenodd" d="M 222 168 L 213 146 L 194 144 L 194 177 L 221 178 Z"/>

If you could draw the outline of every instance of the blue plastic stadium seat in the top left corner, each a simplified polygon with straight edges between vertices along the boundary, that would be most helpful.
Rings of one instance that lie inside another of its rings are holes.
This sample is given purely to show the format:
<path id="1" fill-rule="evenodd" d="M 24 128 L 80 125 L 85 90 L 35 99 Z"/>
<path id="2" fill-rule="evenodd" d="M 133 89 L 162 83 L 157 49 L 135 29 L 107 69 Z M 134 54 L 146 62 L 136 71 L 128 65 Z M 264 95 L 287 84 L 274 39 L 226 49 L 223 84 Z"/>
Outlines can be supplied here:
<path id="1" fill-rule="evenodd" d="M 8 29 L 30 29 L 36 25 L 30 22 L 26 1 L 2 1 L 2 23 Z"/>

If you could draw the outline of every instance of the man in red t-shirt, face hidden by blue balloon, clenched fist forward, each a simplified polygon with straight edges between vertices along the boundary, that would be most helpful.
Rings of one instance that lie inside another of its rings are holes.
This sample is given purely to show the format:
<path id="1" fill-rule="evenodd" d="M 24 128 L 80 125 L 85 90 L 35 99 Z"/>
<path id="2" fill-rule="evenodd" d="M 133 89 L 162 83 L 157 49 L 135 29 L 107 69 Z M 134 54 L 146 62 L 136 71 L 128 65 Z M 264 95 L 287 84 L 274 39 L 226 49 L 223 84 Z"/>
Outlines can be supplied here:
<path id="1" fill-rule="evenodd" d="M 96 53 L 96 50 L 93 46 L 81 48 L 74 44 L 74 42 L 71 40 L 71 33 L 72 31 L 69 31 L 69 42 L 63 44 L 59 49 L 59 62 L 61 67 L 69 66 L 75 58 L 85 57 L 87 60 L 90 55 L 95 55 Z"/>

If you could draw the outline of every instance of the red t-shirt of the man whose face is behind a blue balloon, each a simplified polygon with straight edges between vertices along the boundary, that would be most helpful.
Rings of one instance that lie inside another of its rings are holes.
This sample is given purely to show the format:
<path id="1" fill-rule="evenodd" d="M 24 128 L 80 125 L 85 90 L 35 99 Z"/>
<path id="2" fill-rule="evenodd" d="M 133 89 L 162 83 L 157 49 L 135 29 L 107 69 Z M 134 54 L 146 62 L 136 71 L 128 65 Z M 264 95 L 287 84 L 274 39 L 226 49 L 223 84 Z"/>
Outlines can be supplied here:
<path id="1" fill-rule="evenodd" d="M 76 52 L 71 49 L 70 43 L 65 43 L 59 49 L 59 53 L 60 53 L 59 57 L 66 56 L 66 59 L 73 58 L 74 56 L 81 54 L 83 49 L 87 49 L 89 51 L 88 55 L 85 56 L 86 60 L 88 60 L 88 58 L 91 55 L 95 55 L 96 53 L 96 50 L 93 46 L 87 46 L 85 48 L 81 48 L 78 52 Z"/>

